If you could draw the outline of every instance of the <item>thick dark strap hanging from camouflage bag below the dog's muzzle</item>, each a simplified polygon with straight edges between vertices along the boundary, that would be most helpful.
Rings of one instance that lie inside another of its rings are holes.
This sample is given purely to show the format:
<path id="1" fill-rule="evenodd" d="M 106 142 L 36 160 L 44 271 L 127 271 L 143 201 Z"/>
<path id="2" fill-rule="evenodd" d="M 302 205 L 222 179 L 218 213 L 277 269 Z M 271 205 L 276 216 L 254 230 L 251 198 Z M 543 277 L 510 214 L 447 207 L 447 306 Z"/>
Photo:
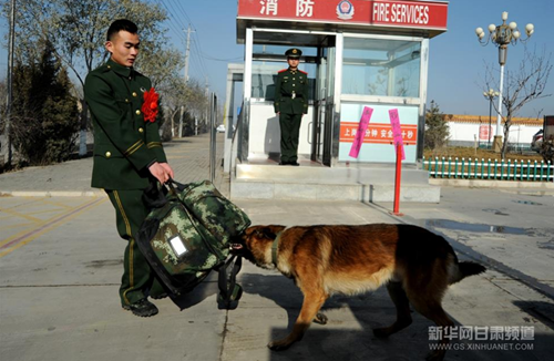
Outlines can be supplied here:
<path id="1" fill-rule="evenodd" d="M 227 274 L 229 265 L 233 264 L 230 272 Z M 238 300 L 243 295 L 243 289 L 237 285 L 237 274 L 243 267 L 243 257 L 233 256 L 217 270 L 219 277 L 217 285 L 219 287 L 219 297 L 217 298 L 219 309 L 235 309 L 238 306 Z"/>

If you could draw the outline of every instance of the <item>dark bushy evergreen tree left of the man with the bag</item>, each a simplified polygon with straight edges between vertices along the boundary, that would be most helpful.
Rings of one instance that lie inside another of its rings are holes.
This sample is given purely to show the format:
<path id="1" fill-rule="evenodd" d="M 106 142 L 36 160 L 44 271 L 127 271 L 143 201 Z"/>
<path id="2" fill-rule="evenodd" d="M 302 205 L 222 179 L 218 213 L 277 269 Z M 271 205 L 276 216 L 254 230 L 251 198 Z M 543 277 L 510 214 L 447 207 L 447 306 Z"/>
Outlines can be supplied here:
<path id="1" fill-rule="evenodd" d="M 66 71 L 45 42 L 39 62 L 14 69 L 13 145 L 31 165 L 70 157 L 79 131 L 76 99 Z"/>

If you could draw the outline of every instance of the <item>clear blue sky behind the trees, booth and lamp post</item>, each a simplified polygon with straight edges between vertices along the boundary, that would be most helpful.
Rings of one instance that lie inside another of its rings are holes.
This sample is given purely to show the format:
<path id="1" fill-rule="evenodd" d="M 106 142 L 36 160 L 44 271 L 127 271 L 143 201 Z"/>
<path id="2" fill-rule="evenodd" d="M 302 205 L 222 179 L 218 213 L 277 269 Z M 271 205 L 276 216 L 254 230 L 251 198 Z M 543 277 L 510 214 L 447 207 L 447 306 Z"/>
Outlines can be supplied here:
<path id="1" fill-rule="evenodd" d="M 225 97 L 227 64 L 242 62 L 244 45 L 236 43 L 236 0 L 148 0 L 157 2 L 170 14 L 165 25 L 176 49 L 185 53 L 186 28 L 191 25 L 189 79 L 205 84 L 220 100 Z M 336 0 L 315 0 L 329 1 Z M 338 0 L 337 0 L 338 1 Z M 475 28 L 486 31 L 489 24 L 501 24 L 501 14 L 509 12 L 509 22 L 515 21 L 522 31 L 526 23 L 535 32 L 526 42 L 529 50 L 554 55 L 550 28 L 554 13 L 552 0 L 451 0 L 449 1 L 448 31 L 430 40 L 428 103 L 433 100 L 444 114 L 489 115 L 489 101 L 483 96 L 486 66 L 500 79 L 497 49 L 489 43 L 482 47 Z M 2 35 L 8 31 L 7 21 L 0 21 Z M 550 29 L 550 30 L 548 30 Z M 550 35 L 548 35 L 550 34 Z M 524 44 L 509 45 L 506 71 L 517 71 L 523 59 Z M 7 73 L 7 51 L 0 50 L 0 78 Z M 551 58 L 551 64 L 554 58 Z M 496 85 L 497 90 L 499 85 Z M 548 78 L 542 100 L 525 105 L 517 116 L 536 117 L 554 114 L 554 72 Z"/>

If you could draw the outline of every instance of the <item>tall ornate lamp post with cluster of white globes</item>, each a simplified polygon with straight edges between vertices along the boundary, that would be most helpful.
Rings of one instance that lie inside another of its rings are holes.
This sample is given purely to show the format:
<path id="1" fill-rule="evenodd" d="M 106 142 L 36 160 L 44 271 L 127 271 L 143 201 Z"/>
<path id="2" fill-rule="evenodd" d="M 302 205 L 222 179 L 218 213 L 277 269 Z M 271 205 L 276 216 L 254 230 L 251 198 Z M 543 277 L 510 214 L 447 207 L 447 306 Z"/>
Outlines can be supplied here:
<path id="1" fill-rule="evenodd" d="M 506 63 L 506 54 L 507 54 L 507 45 L 512 44 L 515 45 L 517 41 L 527 41 L 529 38 L 534 32 L 534 25 L 532 23 L 529 23 L 525 25 L 525 33 L 527 34 L 527 38 L 525 39 L 520 39 L 521 38 L 521 32 L 517 29 L 517 24 L 515 22 L 511 22 L 506 24 L 507 20 L 507 12 L 504 11 L 502 12 L 502 24 L 501 25 L 495 25 L 495 24 L 490 24 L 489 25 L 489 37 L 486 37 L 486 41 L 483 41 L 483 38 L 485 37 L 485 32 L 483 28 L 478 28 L 475 29 L 475 34 L 479 38 L 479 42 L 484 47 L 489 42 L 492 42 L 495 47 L 499 48 L 499 64 L 500 64 L 500 94 L 499 94 L 499 115 L 496 117 L 496 135 L 494 135 L 494 152 L 500 152 L 501 144 L 502 144 L 502 132 L 501 132 L 501 121 L 502 121 L 502 89 L 503 89 L 503 82 L 504 82 L 504 64 Z"/>

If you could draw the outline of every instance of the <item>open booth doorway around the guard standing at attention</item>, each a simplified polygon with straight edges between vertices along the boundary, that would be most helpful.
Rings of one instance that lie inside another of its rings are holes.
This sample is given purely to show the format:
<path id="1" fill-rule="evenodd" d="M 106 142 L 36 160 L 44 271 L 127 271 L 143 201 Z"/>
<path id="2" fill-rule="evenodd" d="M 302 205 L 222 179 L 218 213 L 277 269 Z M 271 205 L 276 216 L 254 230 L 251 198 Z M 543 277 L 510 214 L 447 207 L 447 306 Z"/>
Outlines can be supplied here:
<path id="1" fill-rule="evenodd" d="M 250 80 L 249 94 L 245 92 L 250 111 L 248 162 L 278 163 L 280 130 L 273 109 L 275 81 L 277 72 L 287 68 L 285 52 L 293 47 L 302 50 L 299 69 L 308 72 L 309 82 L 308 114 L 302 118 L 298 146 L 300 164 L 330 166 L 336 34 L 268 29 L 253 31 L 252 62 L 248 64 L 248 56 L 245 62 L 245 76 Z"/>

